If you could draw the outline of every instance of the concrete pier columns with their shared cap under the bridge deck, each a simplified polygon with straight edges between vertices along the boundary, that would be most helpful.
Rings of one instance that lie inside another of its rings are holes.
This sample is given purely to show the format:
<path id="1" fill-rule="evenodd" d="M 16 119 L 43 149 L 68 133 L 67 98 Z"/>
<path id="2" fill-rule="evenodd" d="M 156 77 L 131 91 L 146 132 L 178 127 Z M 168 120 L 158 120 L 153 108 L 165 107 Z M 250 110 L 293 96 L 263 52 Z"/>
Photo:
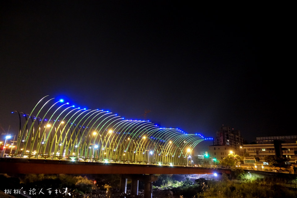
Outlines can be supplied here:
<path id="1" fill-rule="evenodd" d="M 127 179 L 131 179 L 131 194 L 138 195 L 139 180 L 144 181 L 144 198 L 153 197 L 153 182 L 158 176 L 152 174 L 122 174 L 120 180 L 120 192 L 127 193 Z"/>

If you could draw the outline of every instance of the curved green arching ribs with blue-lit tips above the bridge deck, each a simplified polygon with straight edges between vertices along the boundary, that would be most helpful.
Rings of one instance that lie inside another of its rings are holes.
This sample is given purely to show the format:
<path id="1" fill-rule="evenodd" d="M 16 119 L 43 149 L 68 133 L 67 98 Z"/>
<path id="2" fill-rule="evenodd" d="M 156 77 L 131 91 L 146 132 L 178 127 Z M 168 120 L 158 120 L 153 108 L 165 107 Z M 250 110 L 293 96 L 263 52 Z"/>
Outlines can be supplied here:
<path id="1" fill-rule="evenodd" d="M 6 149 L 11 157 L 184 166 L 191 162 L 194 147 L 206 140 L 47 97 L 30 114 L 12 112 L 18 114 L 19 132 L 16 145 Z"/>

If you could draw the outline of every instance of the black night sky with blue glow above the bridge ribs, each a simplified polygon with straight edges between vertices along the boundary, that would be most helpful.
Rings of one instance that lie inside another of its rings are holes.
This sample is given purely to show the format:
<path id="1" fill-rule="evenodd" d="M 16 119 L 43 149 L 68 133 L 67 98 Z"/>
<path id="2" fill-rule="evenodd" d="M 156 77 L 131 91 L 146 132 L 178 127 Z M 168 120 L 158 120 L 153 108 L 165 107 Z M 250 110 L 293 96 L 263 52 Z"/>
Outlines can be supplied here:
<path id="1" fill-rule="evenodd" d="M 1 131 L 50 95 L 206 137 L 296 135 L 291 6 L 213 6 L 2 1 Z"/>

